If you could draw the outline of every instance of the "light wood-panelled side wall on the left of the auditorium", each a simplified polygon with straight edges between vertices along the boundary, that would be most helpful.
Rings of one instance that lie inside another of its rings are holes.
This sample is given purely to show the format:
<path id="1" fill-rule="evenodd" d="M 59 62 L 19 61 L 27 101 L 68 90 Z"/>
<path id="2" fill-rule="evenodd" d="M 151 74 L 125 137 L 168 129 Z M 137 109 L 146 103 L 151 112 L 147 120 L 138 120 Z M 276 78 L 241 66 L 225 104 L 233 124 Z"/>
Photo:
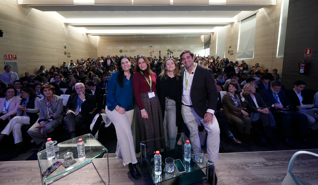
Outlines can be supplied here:
<path id="1" fill-rule="evenodd" d="M 0 0 L 0 57 L 17 55 L 20 77 L 35 73 L 40 65 L 50 69 L 72 59 L 97 56 L 98 36 L 86 36 L 79 29 L 63 23 L 56 12 L 42 12 L 18 5 L 17 0 Z M 64 45 L 66 44 L 66 49 Z M 69 52 L 71 57 L 64 55 Z M 4 62 L 0 62 L 3 71 Z"/>

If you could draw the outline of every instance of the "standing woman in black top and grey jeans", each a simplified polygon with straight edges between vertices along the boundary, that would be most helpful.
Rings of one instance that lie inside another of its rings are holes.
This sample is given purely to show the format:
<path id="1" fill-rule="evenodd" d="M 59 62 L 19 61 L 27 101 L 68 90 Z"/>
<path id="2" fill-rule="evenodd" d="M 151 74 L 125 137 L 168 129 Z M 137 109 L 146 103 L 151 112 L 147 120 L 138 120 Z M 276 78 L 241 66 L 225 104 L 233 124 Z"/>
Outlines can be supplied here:
<path id="1" fill-rule="evenodd" d="M 182 79 L 176 69 L 177 63 L 168 58 L 164 62 L 163 72 L 157 77 L 156 90 L 159 98 L 165 135 L 173 135 L 166 141 L 168 149 L 174 149 L 177 126 L 182 122 L 181 86 Z"/>

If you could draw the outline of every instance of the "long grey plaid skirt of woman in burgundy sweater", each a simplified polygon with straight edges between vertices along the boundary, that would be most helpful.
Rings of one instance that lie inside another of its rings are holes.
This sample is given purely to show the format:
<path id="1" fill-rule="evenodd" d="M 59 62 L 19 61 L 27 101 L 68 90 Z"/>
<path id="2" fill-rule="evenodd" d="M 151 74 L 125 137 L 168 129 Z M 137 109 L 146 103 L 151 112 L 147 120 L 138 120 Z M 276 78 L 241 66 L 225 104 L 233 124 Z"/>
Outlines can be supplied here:
<path id="1" fill-rule="evenodd" d="M 164 137 L 160 102 L 156 92 L 155 95 L 156 97 L 149 98 L 148 93 L 140 93 L 142 104 L 148 113 L 148 119 L 141 117 L 140 108 L 138 107 L 137 103 L 135 103 L 136 153 L 140 152 L 140 142 Z M 147 145 L 147 153 L 151 153 L 154 150 L 158 150 L 160 148 L 165 148 L 164 139 L 163 142 L 153 142 L 151 144 L 148 143 Z"/>

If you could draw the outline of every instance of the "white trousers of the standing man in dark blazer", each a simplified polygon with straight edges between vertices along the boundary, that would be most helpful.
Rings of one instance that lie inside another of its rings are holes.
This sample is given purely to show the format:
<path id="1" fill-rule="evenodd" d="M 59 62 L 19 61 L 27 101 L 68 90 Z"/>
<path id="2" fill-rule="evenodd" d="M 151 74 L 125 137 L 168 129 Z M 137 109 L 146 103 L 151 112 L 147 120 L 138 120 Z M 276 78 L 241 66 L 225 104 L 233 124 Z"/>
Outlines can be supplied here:
<path id="1" fill-rule="evenodd" d="M 204 118 L 197 115 L 193 108 L 182 105 L 181 113 L 183 121 L 190 130 L 190 141 L 201 150 L 201 143 L 198 134 L 198 121 L 201 122 L 208 132 L 207 137 L 207 156 L 211 162 L 218 162 L 218 152 L 220 144 L 220 128 L 218 120 L 213 115 L 212 123 L 207 125 L 204 123 Z"/>

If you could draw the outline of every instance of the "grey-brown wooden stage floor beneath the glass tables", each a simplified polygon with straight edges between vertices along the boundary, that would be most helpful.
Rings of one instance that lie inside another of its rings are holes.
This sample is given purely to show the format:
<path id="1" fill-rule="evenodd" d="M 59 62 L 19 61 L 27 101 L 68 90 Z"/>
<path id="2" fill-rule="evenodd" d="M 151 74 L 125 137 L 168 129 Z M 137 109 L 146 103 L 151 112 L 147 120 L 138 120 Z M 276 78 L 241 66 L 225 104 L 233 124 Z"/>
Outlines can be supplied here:
<path id="1" fill-rule="evenodd" d="M 299 150 L 242 152 L 219 154 L 216 163 L 218 185 L 279 185 L 287 174 L 292 155 Z M 318 153 L 318 149 L 307 151 Z M 140 158 L 139 158 L 140 159 Z M 139 165 L 137 165 L 139 168 Z M 63 167 L 61 167 L 63 168 Z M 153 184 L 147 167 L 141 172 L 142 178 L 135 180 L 122 159 L 110 158 L 110 184 L 151 185 Z M 318 158 L 299 155 L 295 160 L 293 174 L 311 183 L 318 184 Z M 56 181 L 54 184 L 107 184 L 107 159 L 93 159 L 93 162 Z M 0 184 L 41 184 L 37 161 L 0 162 Z M 197 184 L 208 184 L 207 181 Z"/>

